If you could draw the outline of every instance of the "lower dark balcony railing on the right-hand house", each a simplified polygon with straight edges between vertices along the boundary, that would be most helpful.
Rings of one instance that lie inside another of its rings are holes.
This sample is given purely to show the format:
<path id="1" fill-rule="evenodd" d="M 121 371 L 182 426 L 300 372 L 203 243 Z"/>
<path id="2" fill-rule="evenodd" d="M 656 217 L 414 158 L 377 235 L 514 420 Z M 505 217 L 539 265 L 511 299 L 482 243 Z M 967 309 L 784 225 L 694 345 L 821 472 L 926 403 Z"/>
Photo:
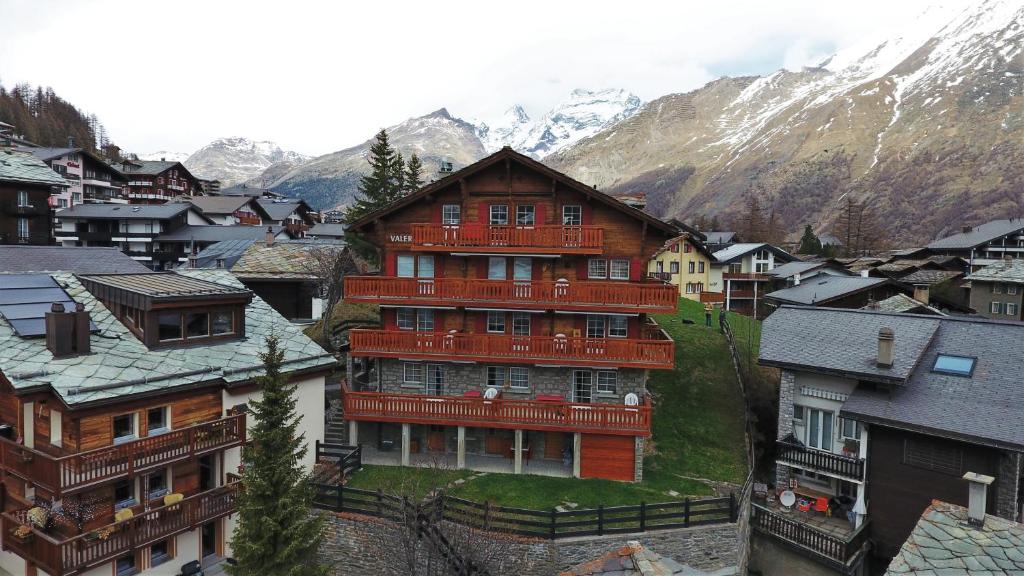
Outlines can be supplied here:
<path id="1" fill-rule="evenodd" d="M 759 504 L 751 505 L 751 525 L 841 574 L 850 573 L 867 541 L 867 522 L 844 538 L 805 524 L 792 513 L 783 516 Z"/>

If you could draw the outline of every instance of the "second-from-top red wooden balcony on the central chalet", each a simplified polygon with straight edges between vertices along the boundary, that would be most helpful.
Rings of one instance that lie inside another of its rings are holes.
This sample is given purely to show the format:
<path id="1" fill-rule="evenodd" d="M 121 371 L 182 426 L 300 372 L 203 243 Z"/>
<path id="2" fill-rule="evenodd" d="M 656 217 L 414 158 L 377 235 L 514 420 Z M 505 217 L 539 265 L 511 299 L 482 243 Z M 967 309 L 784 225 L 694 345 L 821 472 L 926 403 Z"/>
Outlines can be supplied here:
<path id="1" fill-rule="evenodd" d="M 465 278 L 345 279 L 349 301 L 403 305 L 514 305 L 527 310 L 673 313 L 677 288 L 660 282 L 517 282 Z"/>

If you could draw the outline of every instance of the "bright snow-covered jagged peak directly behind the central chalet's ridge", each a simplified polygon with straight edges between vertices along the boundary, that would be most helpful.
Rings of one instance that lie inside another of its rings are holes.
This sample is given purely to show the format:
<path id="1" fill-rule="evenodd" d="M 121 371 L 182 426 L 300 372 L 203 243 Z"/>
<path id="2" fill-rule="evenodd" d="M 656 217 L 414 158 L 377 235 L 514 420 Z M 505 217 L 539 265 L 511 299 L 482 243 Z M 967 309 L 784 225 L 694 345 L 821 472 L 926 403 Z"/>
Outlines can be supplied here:
<path id="1" fill-rule="evenodd" d="M 633 116 L 642 105 L 635 94 L 618 88 L 575 89 L 537 121 L 517 105 L 494 126 L 479 123 L 477 134 L 488 153 L 510 146 L 544 158 Z"/>

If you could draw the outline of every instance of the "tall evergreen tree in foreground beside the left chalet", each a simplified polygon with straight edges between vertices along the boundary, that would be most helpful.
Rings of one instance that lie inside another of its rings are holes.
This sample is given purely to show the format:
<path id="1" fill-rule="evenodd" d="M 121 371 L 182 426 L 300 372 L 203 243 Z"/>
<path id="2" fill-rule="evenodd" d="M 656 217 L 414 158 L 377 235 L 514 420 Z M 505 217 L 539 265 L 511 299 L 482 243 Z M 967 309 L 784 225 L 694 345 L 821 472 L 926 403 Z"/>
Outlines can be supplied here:
<path id="1" fill-rule="evenodd" d="M 266 371 L 259 379 L 263 397 L 250 403 L 252 443 L 243 452 L 243 490 L 232 541 L 238 564 L 227 567 L 232 576 L 327 573 L 312 563 L 324 524 L 310 513 L 312 491 L 301 463 L 305 439 L 298 434 L 295 386 L 281 373 L 285 353 L 279 344 L 276 336 L 267 337 L 266 352 L 260 355 Z"/>

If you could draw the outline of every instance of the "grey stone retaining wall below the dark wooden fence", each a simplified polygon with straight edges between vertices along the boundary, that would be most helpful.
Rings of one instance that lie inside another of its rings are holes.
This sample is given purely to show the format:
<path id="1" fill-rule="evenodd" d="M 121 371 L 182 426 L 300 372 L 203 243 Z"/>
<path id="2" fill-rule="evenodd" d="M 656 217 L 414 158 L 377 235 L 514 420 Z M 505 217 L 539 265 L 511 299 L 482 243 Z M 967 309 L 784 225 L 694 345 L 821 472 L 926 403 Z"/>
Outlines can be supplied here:
<path id="1" fill-rule="evenodd" d="M 620 534 L 538 540 L 501 534 L 470 531 L 463 527 L 445 526 L 454 541 L 471 542 L 468 553 L 485 565 L 492 574 L 517 576 L 550 576 L 571 566 L 594 560 L 606 552 L 638 540 L 647 548 L 676 562 L 705 571 L 729 570 L 738 566 L 740 541 L 736 525 L 701 526 L 660 530 L 642 534 Z M 377 519 L 354 515 L 327 515 L 327 531 L 319 550 L 319 561 L 329 566 L 332 576 L 407 575 L 404 566 L 412 549 L 397 537 L 394 525 Z M 418 550 L 421 565 L 418 574 L 433 574 L 426 570 L 425 550 Z M 443 574 L 442 571 L 436 572 Z"/>

